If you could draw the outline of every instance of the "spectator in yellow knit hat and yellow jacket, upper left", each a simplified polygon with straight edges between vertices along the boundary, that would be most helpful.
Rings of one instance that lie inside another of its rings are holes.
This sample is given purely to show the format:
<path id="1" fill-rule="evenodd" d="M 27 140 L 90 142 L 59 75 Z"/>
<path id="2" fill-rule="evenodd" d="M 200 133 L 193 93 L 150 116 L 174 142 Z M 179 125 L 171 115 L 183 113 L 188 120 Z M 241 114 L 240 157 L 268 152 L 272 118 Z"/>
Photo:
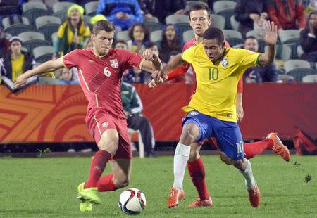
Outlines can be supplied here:
<path id="1" fill-rule="evenodd" d="M 82 20 L 84 8 L 74 4 L 68 8 L 67 14 L 68 19 L 58 29 L 53 59 L 75 49 L 82 49 L 85 40 L 90 37 L 89 27 Z"/>

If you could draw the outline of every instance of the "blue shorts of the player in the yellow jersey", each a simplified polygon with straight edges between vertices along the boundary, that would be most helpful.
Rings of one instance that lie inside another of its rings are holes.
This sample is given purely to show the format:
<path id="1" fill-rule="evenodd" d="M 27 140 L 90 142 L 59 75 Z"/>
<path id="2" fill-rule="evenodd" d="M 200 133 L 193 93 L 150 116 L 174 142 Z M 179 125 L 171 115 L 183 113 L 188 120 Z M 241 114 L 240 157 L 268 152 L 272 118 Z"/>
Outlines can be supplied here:
<path id="1" fill-rule="evenodd" d="M 196 124 L 199 128 L 199 136 L 195 141 L 216 137 L 219 148 L 225 155 L 234 160 L 244 158 L 242 135 L 236 122 L 218 120 L 193 110 L 182 121 L 183 126 L 189 123 Z"/>

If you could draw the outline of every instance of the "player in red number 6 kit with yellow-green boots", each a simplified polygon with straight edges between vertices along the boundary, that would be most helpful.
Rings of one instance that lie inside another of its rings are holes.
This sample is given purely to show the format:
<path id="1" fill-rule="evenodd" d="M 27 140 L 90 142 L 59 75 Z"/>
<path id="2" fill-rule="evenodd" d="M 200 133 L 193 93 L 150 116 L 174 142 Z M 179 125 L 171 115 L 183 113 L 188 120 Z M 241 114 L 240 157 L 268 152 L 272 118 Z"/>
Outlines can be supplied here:
<path id="1" fill-rule="evenodd" d="M 91 34 L 92 49 L 76 49 L 66 56 L 49 60 L 25 72 L 15 82 L 18 87 L 32 75 L 64 66 L 77 68 L 80 86 L 88 100 L 85 120 L 99 148 L 92 159 L 87 182 L 77 188 L 81 211 L 91 211 L 92 204 L 101 203 L 98 191 L 114 191 L 130 182 L 132 150 L 120 96 L 123 72 L 130 68 L 151 72 L 163 67 L 157 55 L 149 61 L 138 53 L 111 49 L 114 30 L 113 23 L 100 20 Z M 112 174 L 101 177 L 107 162 L 111 164 Z"/>

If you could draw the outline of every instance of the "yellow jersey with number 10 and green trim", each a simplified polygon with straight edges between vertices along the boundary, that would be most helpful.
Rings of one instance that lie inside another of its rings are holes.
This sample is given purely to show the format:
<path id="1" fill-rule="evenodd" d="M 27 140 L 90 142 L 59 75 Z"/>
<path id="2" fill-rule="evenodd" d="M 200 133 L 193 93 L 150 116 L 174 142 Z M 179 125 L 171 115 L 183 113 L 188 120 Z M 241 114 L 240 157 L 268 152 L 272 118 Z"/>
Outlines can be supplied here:
<path id="1" fill-rule="evenodd" d="M 197 86 L 189 105 L 182 110 L 198 110 L 219 120 L 237 122 L 237 83 L 247 68 L 259 65 L 260 55 L 246 49 L 225 48 L 223 58 L 213 63 L 202 44 L 185 50 L 182 59 L 192 64 Z"/>

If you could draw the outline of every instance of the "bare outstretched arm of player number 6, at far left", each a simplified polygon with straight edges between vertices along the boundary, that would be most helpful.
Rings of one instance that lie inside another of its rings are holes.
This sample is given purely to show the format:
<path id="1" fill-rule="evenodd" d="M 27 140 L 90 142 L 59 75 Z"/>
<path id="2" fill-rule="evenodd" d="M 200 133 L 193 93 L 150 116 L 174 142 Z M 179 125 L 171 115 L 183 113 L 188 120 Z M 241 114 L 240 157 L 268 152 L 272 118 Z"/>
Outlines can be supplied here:
<path id="1" fill-rule="evenodd" d="M 42 63 L 41 65 L 37 66 L 37 68 L 34 68 L 32 70 L 27 70 L 25 73 L 20 75 L 18 79 L 16 79 L 14 83 L 15 89 L 22 86 L 27 82 L 27 79 L 29 77 L 32 77 L 34 75 L 39 75 L 44 72 L 49 72 L 49 71 L 54 71 L 59 68 L 63 68 L 64 63 L 63 63 L 63 57 L 58 58 L 56 60 L 49 60 L 46 61 L 45 63 Z"/>

